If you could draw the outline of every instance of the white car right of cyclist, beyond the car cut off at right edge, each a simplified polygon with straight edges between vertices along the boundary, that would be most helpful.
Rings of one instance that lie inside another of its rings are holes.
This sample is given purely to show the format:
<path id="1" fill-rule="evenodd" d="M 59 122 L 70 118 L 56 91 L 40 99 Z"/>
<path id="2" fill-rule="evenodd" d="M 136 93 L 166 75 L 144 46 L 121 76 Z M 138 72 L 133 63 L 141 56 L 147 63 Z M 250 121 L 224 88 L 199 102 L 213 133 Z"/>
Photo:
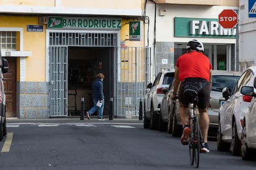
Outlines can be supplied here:
<path id="1" fill-rule="evenodd" d="M 219 110 L 219 124 L 217 133 L 217 149 L 231 150 L 233 155 L 241 154 L 241 133 L 244 114 L 250 105 L 252 97 L 242 95 L 242 86 L 254 86 L 256 67 L 249 67 L 242 73 L 233 90 L 223 89 L 225 102 Z M 255 90 L 255 89 L 254 89 Z"/>

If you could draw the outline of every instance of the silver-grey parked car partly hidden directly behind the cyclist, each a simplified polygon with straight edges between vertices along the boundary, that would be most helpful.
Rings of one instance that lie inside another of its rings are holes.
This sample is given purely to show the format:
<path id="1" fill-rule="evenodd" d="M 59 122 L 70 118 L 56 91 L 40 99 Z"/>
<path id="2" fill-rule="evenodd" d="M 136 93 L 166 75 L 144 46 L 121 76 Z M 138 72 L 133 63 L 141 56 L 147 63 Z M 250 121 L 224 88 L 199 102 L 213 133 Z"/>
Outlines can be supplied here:
<path id="1" fill-rule="evenodd" d="M 210 118 L 209 131 L 212 130 L 212 132 L 215 132 L 218 128 L 218 111 L 220 108 L 220 98 L 223 97 L 223 88 L 229 87 L 229 89 L 233 89 L 237 79 L 239 79 L 239 76 L 241 76 L 241 73 L 237 71 L 212 71 L 211 98 L 210 105 L 208 107 L 208 115 Z M 169 98 L 173 91 L 173 86 L 169 87 L 169 89 L 164 88 L 163 91 L 164 97 L 161 102 L 161 113 L 158 127 L 160 131 L 167 129 L 168 133 L 173 134 L 173 136 L 180 136 L 182 132 L 182 124 L 179 118 L 179 101 L 177 99 L 173 101 Z"/>

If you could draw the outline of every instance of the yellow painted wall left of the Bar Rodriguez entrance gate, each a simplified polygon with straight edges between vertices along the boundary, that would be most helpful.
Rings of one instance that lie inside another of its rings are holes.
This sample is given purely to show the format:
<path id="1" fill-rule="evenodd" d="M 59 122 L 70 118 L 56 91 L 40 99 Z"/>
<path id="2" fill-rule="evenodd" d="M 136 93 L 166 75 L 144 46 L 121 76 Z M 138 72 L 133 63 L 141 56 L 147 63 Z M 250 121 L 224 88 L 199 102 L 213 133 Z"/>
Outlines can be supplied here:
<path id="1" fill-rule="evenodd" d="M 32 52 L 26 57 L 25 81 L 45 81 L 45 26 L 43 32 L 27 32 L 27 25 L 38 25 L 38 17 L 0 16 L 0 21 L 0 27 L 23 28 L 23 51 Z"/>

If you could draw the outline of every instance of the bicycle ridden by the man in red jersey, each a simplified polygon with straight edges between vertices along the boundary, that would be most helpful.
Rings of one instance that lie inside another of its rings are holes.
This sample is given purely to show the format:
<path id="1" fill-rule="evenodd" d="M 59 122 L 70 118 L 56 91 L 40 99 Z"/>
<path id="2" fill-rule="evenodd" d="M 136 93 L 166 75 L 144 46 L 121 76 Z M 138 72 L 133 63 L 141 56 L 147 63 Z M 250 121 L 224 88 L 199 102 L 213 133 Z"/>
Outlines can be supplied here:
<path id="1" fill-rule="evenodd" d="M 187 96 L 189 96 L 190 103 L 189 103 L 189 127 L 190 127 L 190 136 L 188 145 L 189 145 L 189 158 L 190 158 L 190 164 L 194 165 L 195 167 L 198 168 L 199 166 L 199 153 L 200 149 L 202 147 L 202 133 L 200 130 L 200 126 L 198 123 L 198 116 L 195 114 L 196 112 L 196 107 L 197 107 L 197 91 L 194 91 L 192 89 L 187 89 L 184 91 L 187 93 Z"/>

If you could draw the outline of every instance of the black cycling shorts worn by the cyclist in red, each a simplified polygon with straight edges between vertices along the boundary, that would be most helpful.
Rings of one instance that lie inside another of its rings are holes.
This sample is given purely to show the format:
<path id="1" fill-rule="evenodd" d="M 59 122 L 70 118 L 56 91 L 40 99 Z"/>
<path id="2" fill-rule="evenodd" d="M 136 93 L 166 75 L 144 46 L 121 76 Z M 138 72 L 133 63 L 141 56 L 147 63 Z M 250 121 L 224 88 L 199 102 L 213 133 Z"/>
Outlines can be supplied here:
<path id="1" fill-rule="evenodd" d="M 210 102 L 210 83 L 206 79 L 186 78 L 182 81 L 179 87 L 179 101 L 184 105 L 189 105 L 189 96 L 186 96 L 186 93 L 184 93 L 186 89 L 197 91 L 198 108 L 205 109 L 208 107 Z"/>

